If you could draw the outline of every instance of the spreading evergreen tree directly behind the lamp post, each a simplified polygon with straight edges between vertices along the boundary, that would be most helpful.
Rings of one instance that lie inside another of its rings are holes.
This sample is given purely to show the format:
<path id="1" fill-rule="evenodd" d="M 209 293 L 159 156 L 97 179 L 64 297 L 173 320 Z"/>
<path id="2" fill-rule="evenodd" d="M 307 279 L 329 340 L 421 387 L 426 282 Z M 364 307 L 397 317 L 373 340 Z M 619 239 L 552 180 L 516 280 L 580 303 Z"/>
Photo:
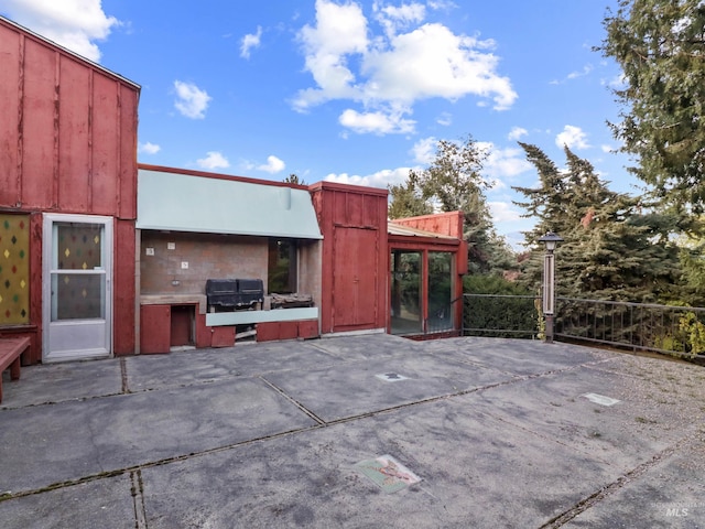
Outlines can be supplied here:
<path id="1" fill-rule="evenodd" d="M 655 302 L 676 295 L 677 249 L 669 241 L 673 222 L 641 204 L 611 192 L 593 165 L 567 147 L 567 169 L 555 164 L 535 145 L 521 143 L 536 168 L 540 187 L 514 187 L 529 198 L 517 205 L 538 219 L 524 234 L 533 251 L 525 261 L 524 280 L 539 289 L 545 231 L 565 241 L 556 249 L 556 292 L 567 298 Z M 556 191 L 557 190 L 557 191 Z"/>

